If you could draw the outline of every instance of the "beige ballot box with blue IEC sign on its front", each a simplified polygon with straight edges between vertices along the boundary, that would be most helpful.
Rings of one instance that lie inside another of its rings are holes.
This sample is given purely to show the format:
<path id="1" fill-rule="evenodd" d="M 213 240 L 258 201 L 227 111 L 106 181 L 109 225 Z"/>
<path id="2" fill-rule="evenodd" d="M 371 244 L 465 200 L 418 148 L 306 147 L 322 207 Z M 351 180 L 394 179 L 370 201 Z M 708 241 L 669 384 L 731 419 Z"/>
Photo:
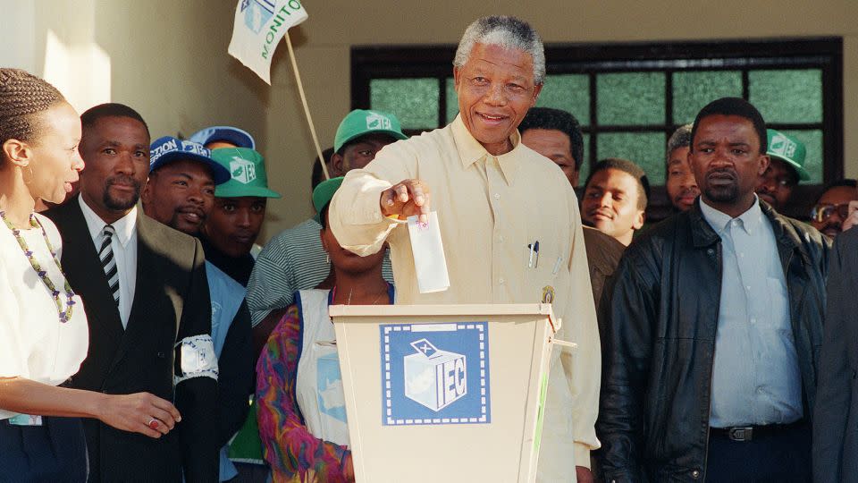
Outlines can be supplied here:
<path id="1" fill-rule="evenodd" d="M 534 481 L 551 304 L 330 310 L 358 483 Z"/>

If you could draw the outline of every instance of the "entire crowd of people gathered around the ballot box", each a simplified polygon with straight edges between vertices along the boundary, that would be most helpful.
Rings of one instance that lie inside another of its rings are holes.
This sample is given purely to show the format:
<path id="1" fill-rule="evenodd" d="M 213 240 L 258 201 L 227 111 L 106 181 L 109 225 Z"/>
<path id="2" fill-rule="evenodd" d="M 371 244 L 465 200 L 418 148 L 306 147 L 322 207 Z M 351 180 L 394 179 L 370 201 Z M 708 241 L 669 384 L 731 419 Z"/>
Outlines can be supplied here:
<path id="1" fill-rule="evenodd" d="M 581 126 L 534 106 L 525 21 L 474 21 L 453 74 L 441 129 L 347 114 L 315 216 L 260 247 L 282 195 L 251 133 L 152 140 L 0 69 L 0 481 L 353 481 L 344 404 L 320 408 L 330 305 L 539 301 L 577 347 L 552 352 L 537 481 L 858 481 L 855 181 L 782 215 L 806 148 L 723 97 L 669 137 L 652 224 L 632 160 L 576 197 Z M 402 225 L 433 211 L 450 288 L 421 293 Z M 519 263 L 529 240 L 556 263 Z"/>

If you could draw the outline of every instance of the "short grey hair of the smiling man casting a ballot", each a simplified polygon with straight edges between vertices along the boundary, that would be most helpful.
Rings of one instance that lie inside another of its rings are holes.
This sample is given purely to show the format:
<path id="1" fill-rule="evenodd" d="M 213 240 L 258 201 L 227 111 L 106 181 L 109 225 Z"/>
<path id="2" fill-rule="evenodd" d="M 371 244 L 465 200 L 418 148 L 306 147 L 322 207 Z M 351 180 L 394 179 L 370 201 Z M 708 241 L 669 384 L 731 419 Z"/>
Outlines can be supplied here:
<path id="1" fill-rule="evenodd" d="M 531 56 L 534 63 L 534 83 L 545 81 L 545 50 L 543 40 L 526 21 L 516 17 L 495 15 L 476 19 L 467 26 L 465 35 L 458 41 L 453 65 L 462 68 L 475 44 L 517 49 Z"/>

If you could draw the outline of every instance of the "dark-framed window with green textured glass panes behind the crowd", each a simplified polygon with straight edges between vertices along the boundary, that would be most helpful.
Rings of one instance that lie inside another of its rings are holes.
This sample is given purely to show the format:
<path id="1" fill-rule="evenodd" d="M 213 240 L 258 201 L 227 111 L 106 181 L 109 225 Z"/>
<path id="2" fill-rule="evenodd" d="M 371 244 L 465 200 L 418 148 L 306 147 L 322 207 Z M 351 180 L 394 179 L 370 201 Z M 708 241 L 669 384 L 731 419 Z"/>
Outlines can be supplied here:
<path id="1" fill-rule="evenodd" d="M 414 131 L 450 123 L 458 114 L 454 52 L 353 49 L 353 106 L 389 110 Z M 550 45 L 545 52 L 548 75 L 536 106 L 578 119 L 582 182 L 598 160 L 625 157 L 659 190 L 669 136 L 719 97 L 748 99 L 770 128 L 801 140 L 807 183 L 843 176 L 841 38 Z"/>

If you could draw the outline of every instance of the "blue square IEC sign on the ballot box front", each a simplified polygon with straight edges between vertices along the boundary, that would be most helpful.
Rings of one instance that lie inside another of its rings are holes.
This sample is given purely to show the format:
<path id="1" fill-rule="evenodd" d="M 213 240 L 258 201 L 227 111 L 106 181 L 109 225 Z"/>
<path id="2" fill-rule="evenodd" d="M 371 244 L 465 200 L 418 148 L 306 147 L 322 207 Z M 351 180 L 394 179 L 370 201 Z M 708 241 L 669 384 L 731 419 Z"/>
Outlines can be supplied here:
<path id="1" fill-rule="evenodd" d="M 385 426 L 492 422 L 486 322 L 379 330 Z"/>

